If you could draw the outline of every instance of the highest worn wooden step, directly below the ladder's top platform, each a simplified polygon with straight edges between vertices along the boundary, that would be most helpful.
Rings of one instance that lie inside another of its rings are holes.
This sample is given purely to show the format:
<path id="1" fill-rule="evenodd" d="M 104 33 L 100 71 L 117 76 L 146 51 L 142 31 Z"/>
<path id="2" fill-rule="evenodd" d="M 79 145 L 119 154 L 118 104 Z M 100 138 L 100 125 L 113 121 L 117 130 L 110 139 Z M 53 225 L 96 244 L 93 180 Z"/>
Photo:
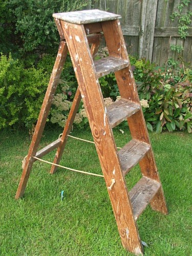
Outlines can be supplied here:
<path id="1" fill-rule="evenodd" d="M 108 75 L 129 66 L 129 61 L 115 57 L 105 57 L 94 61 L 96 69 L 96 78 Z"/>

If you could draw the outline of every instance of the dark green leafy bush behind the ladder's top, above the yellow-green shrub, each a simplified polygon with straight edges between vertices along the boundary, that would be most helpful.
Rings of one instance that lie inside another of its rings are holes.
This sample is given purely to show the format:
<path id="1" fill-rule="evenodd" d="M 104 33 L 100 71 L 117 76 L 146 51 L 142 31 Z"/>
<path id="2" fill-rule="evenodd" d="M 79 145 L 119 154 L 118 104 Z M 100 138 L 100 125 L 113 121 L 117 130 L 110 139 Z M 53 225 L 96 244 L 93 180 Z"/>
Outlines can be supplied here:
<path id="1" fill-rule="evenodd" d="M 43 54 L 56 50 L 60 39 L 52 14 L 78 10 L 88 3 L 90 0 L 5 0 L 0 7 L 4 43 L 14 38 L 13 45 L 22 52 Z"/>

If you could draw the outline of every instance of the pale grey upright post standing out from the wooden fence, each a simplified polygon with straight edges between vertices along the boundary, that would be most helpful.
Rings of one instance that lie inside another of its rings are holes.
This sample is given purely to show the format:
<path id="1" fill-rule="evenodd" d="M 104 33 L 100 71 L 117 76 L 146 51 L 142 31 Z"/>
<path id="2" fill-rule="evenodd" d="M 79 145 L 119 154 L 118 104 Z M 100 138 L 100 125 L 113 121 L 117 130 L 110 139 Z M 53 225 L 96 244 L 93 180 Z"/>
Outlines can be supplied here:
<path id="1" fill-rule="evenodd" d="M 143 0 L 141 30 L 139 36 L 139 57 L 152 61 L 155 22 L 158 0 Z"/>

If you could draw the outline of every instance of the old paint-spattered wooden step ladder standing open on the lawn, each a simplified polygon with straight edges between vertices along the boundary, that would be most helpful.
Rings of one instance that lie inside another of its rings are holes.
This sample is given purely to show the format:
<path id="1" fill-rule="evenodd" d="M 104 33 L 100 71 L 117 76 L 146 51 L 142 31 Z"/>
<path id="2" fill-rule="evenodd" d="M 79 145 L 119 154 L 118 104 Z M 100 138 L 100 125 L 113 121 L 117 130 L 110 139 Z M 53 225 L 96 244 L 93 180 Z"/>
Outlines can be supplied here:
<path id="1" fill-rule="evenodd" d="M 142 254 L 136 220 L 149 203 L 163 214 L 167 214 L 167 208 L 119 23 L 120 15 L 86 10 L 56 13 L 53 17 L 60 34 L 60 46 L 15 198 L 24 195 L 36 158 L 57 148 L 53 164 L 59 163 L 82 98 L 122 245 L 136 255 Z M 94 61 L 102 36 L 109 57 Z M 37 152 L 68 50 L 78 81 L 77 92 L 61 138 Z M 110 72 L 115 72 L 121 99 L 106 107 L 98 78 Z M 118 151 L 112 128 L 124 119 L 129 124 L 132 140 Z M 128 192 L 124 176 L 137 163 L 142 178 Z M 52 174 L 56 168 L 52 165 Z"/>

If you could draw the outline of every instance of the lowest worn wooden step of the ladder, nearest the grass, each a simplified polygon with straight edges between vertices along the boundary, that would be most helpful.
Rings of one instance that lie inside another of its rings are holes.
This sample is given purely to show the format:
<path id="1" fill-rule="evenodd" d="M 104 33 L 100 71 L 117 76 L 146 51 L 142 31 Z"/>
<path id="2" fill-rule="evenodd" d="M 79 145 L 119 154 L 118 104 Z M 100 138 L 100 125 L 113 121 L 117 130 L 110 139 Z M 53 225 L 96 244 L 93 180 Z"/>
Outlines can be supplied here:
<path id="1" fill-rule="evenodd" d="M 155 180 L 143 177 L 130 191 L 130 199 L 133 207 L 135 220 L 142 214 L 143 210 L 156 195 L 161 184 Z"/>

